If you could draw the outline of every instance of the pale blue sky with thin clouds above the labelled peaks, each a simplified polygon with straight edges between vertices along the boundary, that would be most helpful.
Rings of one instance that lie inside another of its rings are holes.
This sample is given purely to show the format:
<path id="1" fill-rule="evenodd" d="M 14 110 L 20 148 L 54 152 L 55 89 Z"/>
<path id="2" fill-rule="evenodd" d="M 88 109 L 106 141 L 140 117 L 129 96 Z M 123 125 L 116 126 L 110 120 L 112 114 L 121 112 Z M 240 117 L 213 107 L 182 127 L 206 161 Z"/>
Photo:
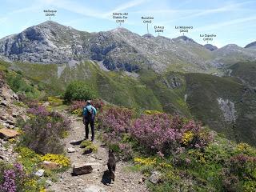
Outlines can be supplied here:
<path id="1" fill-rule="evenodd" d="M 49 20 L 43 10 L 57 10 L 51 20 L 88 32 L 117 28 L 113 13 L 128 13 L 122 27 L 146 34 L 141 17 L 154 17 L 154 26 L 164 26 L 160 35 L 181 36 L 175 26 L 193 26 L 185 35 L 206 44 L 200 34 L 215 34 L 209 43 L 246 46 L 256 41 L 256 0 L 0 0 L 0 38 Z"/>

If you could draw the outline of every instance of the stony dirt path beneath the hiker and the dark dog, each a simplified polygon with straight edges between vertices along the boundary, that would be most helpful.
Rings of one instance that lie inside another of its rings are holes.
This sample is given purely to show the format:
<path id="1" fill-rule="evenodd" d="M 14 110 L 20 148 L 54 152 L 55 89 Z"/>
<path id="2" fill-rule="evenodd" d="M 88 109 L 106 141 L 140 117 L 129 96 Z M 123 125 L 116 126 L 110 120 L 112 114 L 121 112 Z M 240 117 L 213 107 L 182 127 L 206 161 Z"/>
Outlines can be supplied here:
<path id="1" fill-rule="evenodd" d="M 59 181 L 50 186 L 50 190 L 56 192 L 61 191 L 82 191 L 82 192 L 128 192 L 128 191 L 148 191 L 146 184 L 142 182 L 142 175 L 125 170 L 129 166 L 127 162 L 118 162 L 115 173 L 116 179 L 114 182 L 107 184 L 110 179 L 107 177 L 106 162 L 108 159 L 108 150 L 102 146 L 102 143 L 97 140 L 94 144 L 98 146 L 98 152 L 92 154 L 82 154 L 83 149 L 79 145 L 70 144 L 72 142 L 81 141 L 85 137 L 85 129 L 82 124 L 82 118 L 71 116 L 72 130 L 64 143 L 66 150 L 69 147 L 75 149 L 74 153 L 68 153 L 70 157 L 71 167 L 91 165 L 93 172 L 91 174 L 84 174 L 81 176 L 71 176 L 72 168 L 60 175 Z M 96 132 L 97 135 L 97 132 Z M 104 184 L 105 182 L 106 184 Z"/>

